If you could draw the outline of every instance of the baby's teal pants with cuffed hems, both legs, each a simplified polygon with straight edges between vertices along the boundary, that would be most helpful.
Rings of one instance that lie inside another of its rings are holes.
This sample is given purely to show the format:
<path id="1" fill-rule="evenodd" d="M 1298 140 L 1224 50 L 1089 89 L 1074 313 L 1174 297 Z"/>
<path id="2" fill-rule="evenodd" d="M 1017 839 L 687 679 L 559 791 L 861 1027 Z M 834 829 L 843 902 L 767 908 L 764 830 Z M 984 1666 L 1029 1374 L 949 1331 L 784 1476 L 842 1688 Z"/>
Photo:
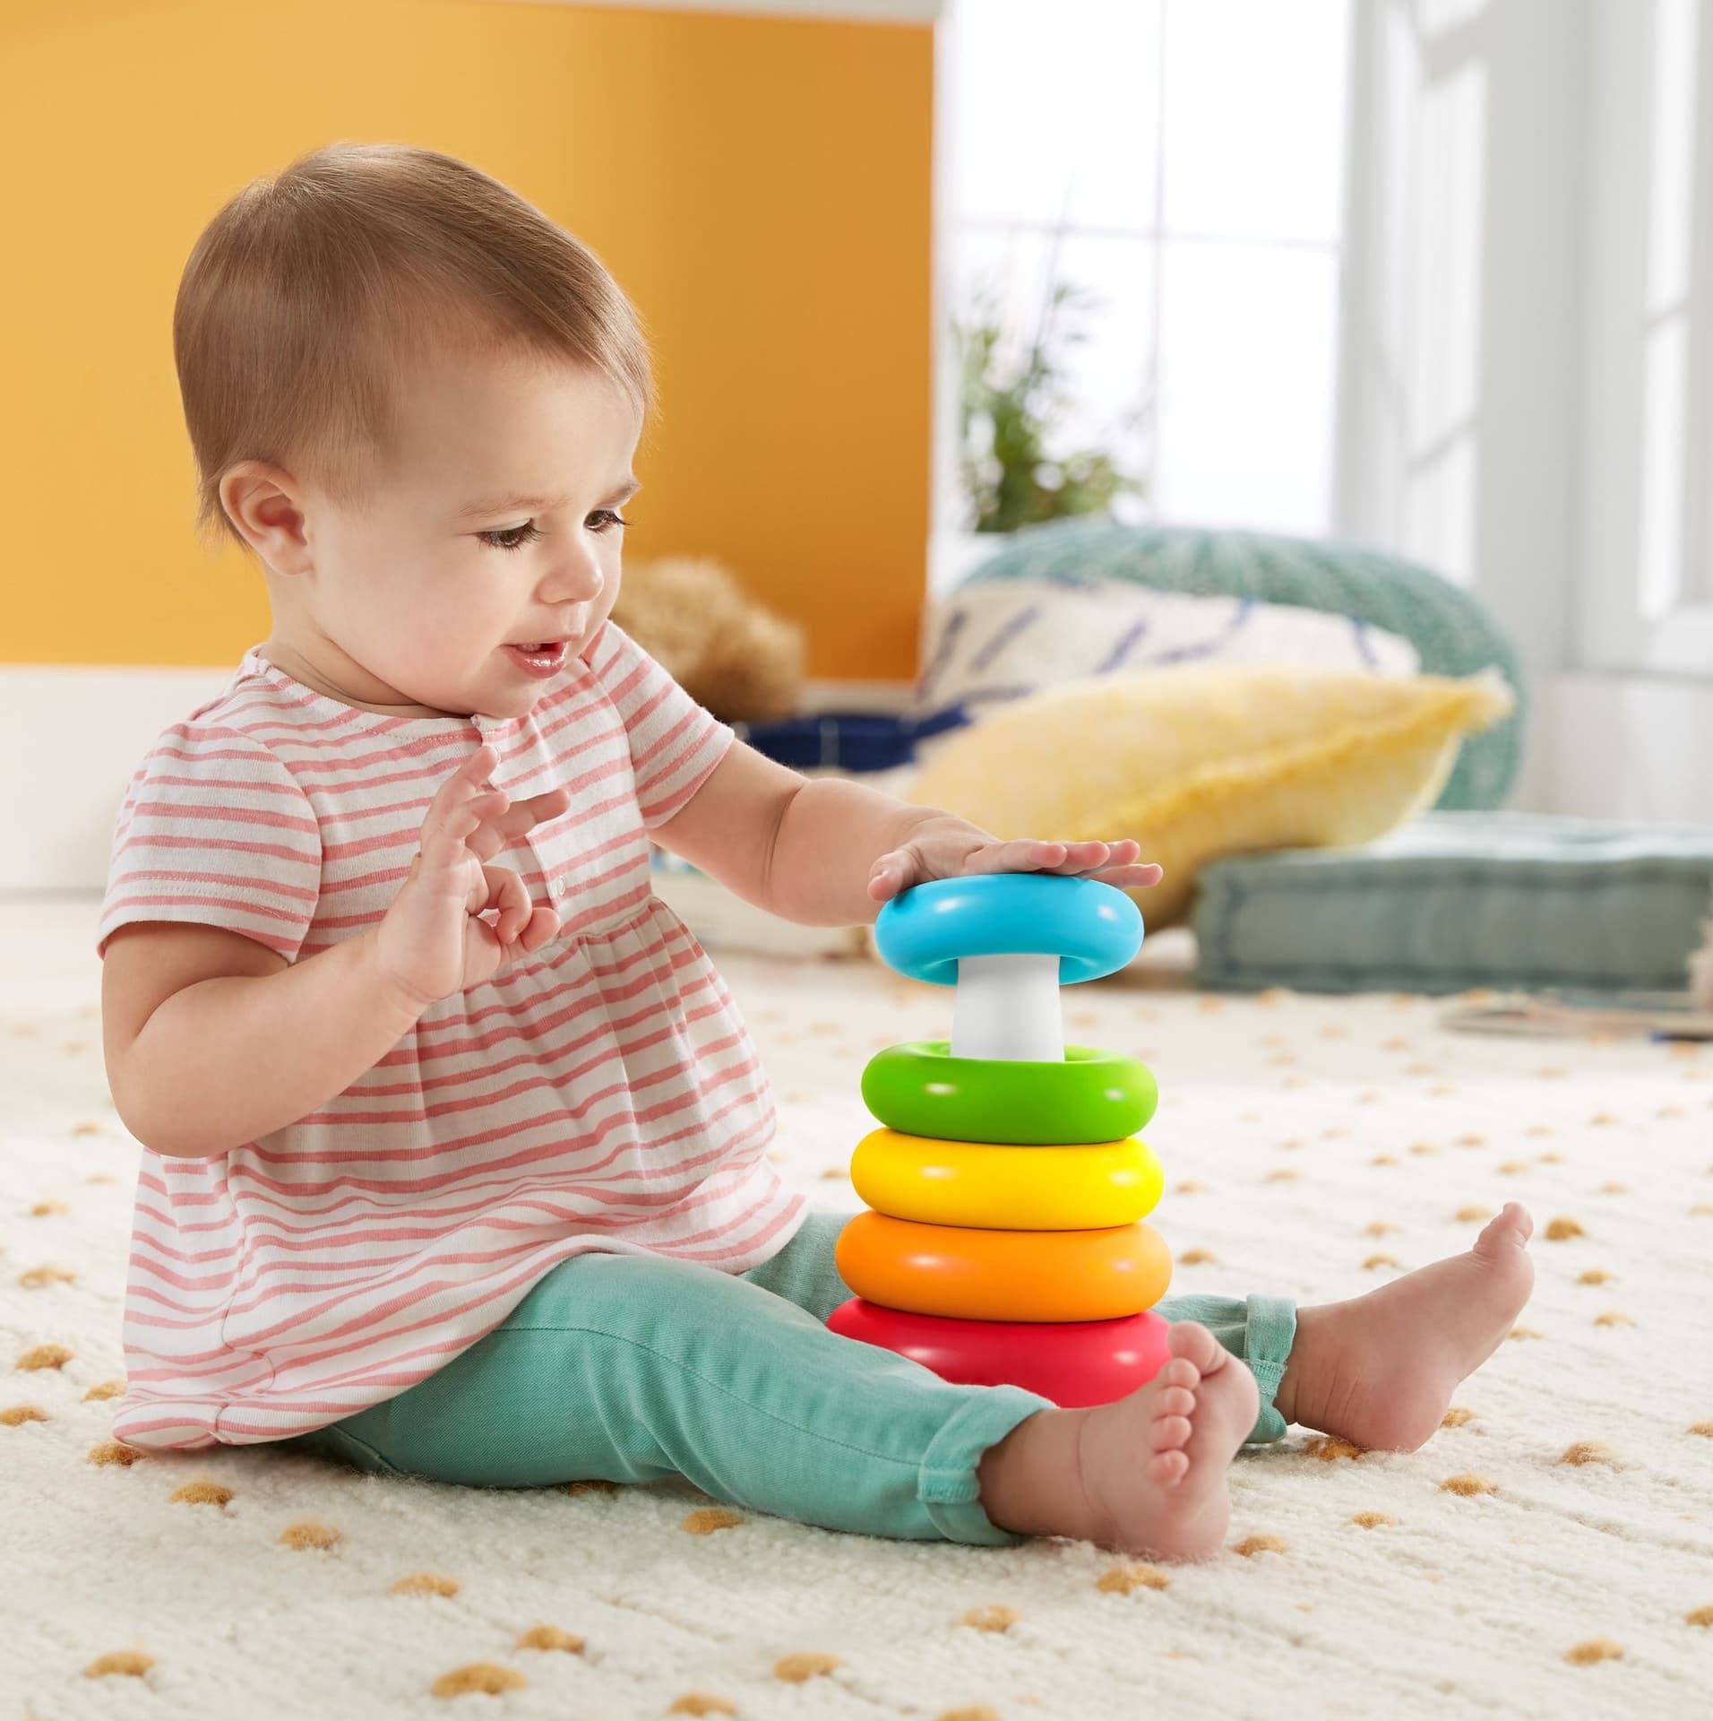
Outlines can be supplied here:
<path id="1" fill-rule="evenodd" d="M 829 1530 L 1013 1545 L 975 1466 L 1053 1401 L 953 1385 L 822 1325 L 851 1292 L 832 1261 L 850 1213 L 812 1213 L 741 1275 L 655 1255 L 573 1255 L 427 1380 L 280 1442 L 365 1470 L 476 1487 L 683 1475 L 715 1499 Z M 1261 1385 L 1250 1440 L 1297 1330 L 1283 1298 L 1166 1298 Z"/>

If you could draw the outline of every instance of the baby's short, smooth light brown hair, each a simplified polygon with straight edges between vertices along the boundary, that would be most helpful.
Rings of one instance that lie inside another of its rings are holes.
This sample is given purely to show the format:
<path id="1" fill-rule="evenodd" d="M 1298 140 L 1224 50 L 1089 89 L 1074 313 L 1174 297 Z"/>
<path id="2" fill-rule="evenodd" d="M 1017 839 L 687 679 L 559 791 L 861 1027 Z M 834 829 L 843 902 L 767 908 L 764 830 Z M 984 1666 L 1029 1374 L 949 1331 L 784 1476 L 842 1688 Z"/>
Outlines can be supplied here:
<path id="1" fill-rule="evenodd" d="M 249 549 L 220 503 L 241 460 L 361 499 L 399 377 L 447 344 L 590 367 L 642 422 L 654 408 L 642 322 L 600 258 L 466 162 L 330 143 L 244 186 L 198 237 L 172 313 L 198 534 Z"/>

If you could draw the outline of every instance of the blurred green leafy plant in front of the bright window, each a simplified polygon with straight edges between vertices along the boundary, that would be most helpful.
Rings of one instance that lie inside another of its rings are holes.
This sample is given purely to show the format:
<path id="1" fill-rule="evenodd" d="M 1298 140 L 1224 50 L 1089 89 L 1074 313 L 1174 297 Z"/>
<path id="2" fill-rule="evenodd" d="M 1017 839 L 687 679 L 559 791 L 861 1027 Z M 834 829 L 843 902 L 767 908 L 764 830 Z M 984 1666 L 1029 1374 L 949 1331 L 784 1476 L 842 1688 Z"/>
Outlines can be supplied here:
<path id="1" fill-rule="evenodd" d="M 1147 490 L 1140 477 L 1121 472 L 1113 456 L 1099 449 L 1047 453 L 1071 403 L 1056 339 L 1066 344 L 1087 339 L 1087 330 L 1073 318 L 1090 303 L 1092 294 L 1082 287 L 1056 282 L 1028 355 L 1008 375 L 999 370 L 1004 325 L 992 287 L 977 289 L 968 322 L 953 320 L 961 380 L 958 465 L 977 532 L 1011 532 L 1066 515 L 1109 513 L 1116 496 Z M 1063 325 L 1061 313 L 1068 313 Z M 1125 425 L 1139 423 L 1142 411 L 1137 406 Z"/>

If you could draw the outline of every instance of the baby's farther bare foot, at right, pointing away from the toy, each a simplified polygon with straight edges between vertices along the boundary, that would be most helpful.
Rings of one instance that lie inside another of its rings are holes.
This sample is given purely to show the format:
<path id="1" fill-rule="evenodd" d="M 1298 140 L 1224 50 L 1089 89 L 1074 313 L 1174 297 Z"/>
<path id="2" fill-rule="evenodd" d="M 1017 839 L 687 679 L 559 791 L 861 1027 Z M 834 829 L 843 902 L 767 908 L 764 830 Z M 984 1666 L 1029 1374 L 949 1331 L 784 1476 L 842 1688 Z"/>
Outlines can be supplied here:
<path id="1" fill-rule="evenodd" d="M 1299 1310 L 1280 1415 L 1367 1449 L 1414 1453 L 1529 1301 L 1532 1231 L 1510 1201 L 1467 1253 L 1367 1296 Z"/>

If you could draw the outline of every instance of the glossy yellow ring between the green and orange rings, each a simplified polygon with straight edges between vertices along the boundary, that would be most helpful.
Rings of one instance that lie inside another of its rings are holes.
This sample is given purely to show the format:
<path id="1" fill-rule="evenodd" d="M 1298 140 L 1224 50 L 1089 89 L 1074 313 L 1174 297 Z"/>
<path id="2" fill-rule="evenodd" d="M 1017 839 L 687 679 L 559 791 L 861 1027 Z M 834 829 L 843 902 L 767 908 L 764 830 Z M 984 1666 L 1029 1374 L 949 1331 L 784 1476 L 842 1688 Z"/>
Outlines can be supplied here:
<path id="1" fill-rule="evenodd" d="M 1152 1212 L 1164 1175 L 1145 1141 L 1015 1148 L 874 1129 L 851 1155 L 856 1194 L 930 1225 L 1089 1231 Z"/>

